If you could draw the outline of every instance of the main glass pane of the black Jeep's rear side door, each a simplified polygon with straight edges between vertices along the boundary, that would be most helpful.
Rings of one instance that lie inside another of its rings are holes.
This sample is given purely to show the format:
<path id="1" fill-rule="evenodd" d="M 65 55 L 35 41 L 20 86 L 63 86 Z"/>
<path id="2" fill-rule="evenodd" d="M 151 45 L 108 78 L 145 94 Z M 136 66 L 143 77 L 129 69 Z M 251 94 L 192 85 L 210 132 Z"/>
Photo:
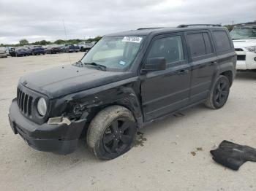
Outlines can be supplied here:
<path id="1" fill-rule="evenodd" d="M 207 55 L 203 33 L 188 34 L 187 39 L 192 58 L 196 58 L 201 55 Z"/>

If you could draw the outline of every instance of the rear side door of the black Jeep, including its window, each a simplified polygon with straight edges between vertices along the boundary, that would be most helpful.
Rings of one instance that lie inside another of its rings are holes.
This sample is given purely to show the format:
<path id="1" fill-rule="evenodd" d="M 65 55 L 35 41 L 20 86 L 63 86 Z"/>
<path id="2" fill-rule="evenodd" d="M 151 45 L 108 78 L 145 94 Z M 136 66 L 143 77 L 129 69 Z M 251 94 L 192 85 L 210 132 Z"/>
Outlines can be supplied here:
<path id="1" fill-rule="evenodd" d="M 217 72 L 217 56 L 208 30 L 188 31 L 186 41 L 191 66 L 189 104 L 195 104 L 208 96 L 211 82 Z"/>

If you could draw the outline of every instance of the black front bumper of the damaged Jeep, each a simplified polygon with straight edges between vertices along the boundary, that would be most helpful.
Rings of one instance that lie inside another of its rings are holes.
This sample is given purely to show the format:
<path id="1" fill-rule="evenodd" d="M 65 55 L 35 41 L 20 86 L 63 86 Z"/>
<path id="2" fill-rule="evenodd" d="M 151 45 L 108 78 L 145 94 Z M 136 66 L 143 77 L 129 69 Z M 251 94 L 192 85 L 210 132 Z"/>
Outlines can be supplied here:
<path id="1" fill-rule="evenodd" d="M 69 154 L 74 152 L 86 120 L 72 121 L 70 125 L 38 125 L 20 113 L 16 98 L 10 106 L 10 125 L 15 134 L 26 141 L 34 149 L 45 152 Z"/>

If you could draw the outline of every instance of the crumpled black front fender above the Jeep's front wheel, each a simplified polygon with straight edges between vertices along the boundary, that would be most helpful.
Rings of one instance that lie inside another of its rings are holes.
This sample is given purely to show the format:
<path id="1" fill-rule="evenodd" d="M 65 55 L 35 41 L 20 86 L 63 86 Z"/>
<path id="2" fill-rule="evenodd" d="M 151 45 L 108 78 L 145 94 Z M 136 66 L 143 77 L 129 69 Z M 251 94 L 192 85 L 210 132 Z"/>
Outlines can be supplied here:
<path id="1" fill-rule="evenodd" d="M 86 118 L 90 122 L 101 109 L 116 104 L 127 107 L 141 127 L 143 115 L 139 98 L 140 84 L 138 77 L 134 77 L 58 98 L 51 103 L 51 115 L 69 120 Z"/>

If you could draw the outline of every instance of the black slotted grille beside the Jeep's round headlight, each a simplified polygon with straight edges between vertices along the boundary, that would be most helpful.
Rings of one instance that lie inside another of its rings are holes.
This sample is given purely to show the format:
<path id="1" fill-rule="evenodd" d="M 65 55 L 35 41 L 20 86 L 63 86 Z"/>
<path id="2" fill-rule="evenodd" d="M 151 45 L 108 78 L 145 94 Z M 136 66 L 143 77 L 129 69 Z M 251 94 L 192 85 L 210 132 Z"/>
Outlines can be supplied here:
<path id="1" fill-rule="evenodd" d="M 17 101 L 18 107 L 20 108 L 20 112 L 23 112 L 26 116 L 31 116 L 31 106 L 33 97 L 26 93 L 23 93 L 20 88 L 17 90 Z"/>

